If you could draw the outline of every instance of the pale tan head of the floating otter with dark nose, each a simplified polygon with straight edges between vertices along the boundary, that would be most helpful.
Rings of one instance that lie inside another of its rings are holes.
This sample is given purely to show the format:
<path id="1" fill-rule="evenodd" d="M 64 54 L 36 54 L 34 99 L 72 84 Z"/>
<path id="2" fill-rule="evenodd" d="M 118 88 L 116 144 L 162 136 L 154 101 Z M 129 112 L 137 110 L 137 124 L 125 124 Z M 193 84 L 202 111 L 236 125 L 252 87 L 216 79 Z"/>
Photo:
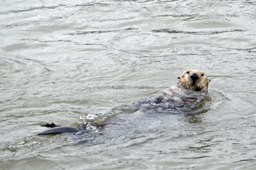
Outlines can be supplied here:
<path id="1" fill-rule="evenodd" d="M 209 79 L 198 69 L 188 69 L 180 76 L 180 82 L 190 90 L 200 91 L 208 88 Z"/>

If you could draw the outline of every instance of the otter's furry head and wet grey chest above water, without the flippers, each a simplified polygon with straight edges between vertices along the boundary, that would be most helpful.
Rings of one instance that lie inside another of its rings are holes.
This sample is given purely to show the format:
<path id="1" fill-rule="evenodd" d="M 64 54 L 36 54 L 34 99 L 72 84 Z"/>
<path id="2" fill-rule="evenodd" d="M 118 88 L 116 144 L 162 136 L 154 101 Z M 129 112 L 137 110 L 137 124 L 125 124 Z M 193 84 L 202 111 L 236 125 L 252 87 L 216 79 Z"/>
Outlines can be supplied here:
<path id="1" fill-rule="evenodd" d="M 198 80 L 191 75 L 196 73 Z M 197 69 L 188 69 L 179 77 L 177 85 L 145 97 L 140 104 L 169 106 L 169 108 L 196 108 L 208 94 L 209 79 Z"/>

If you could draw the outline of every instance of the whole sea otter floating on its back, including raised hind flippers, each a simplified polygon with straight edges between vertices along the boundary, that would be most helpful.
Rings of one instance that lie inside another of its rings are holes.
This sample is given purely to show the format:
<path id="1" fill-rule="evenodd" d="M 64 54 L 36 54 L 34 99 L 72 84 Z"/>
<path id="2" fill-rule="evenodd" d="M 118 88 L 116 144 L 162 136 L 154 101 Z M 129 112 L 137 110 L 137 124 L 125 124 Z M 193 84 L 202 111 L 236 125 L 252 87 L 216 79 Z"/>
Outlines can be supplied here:
<path id="1" fill-rule="evenodd" d="M 206 74 L 197 69 L 188 69 L 179 77 L 179 82 L 168 89 L 162 90 L 145 97 L 139 103 L 132 107 L 133 112 L 140 111 L 160 111 L 172 113 L 177 110 L 193 110 L 199 106 L 208 94 L 209 79 Z M 106 124 L 111 124 L 111 120 L 116 118 L 108 118 Z M 55 124 L 45 124 L 45 127 L 53 127 L 38 135 L 58 134 L 63 132 L 79 132 L 79 131 L 97 131 L 104 128 L 97 122 L 88 122 L 81 127 L 59 127 Z M 95 130 L 96 129 L 96 130 Z"/>

